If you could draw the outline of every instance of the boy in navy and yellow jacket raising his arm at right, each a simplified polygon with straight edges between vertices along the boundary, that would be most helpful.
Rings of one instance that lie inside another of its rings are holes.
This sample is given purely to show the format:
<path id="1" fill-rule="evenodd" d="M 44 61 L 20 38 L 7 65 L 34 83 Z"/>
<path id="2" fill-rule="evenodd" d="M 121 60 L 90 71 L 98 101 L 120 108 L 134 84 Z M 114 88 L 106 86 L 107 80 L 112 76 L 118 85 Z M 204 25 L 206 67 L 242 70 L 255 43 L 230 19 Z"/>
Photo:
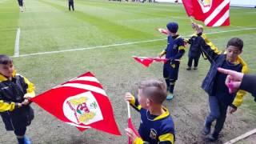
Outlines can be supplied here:
<path id="1" fill-rule="evenodd" d="M 245 91 L 230 94 L 225 86 L 226 74 L 219 73 L 217 68 L 235 70 L 246 73 L 248 68 L 239 54 L 242 53 L 243 42 L 240 38 L 231 38 L 226 45 L 226 54 L 221 54 L 216 47 L 208 40 L 198 37 L 202 51 L 209 59 L 211 66 L 206 78 L 202 82 L 202 89 L 209 94 L 210 114 L 206 118 L 203 134 L 210 134 L 212 122 L 216 120 L 214 131 L 208 136 L 210 141 L 218 139 L 226 120 L 226 111 L 230 107 L 230 114 L 234 113 L 242 103 Z"/>

